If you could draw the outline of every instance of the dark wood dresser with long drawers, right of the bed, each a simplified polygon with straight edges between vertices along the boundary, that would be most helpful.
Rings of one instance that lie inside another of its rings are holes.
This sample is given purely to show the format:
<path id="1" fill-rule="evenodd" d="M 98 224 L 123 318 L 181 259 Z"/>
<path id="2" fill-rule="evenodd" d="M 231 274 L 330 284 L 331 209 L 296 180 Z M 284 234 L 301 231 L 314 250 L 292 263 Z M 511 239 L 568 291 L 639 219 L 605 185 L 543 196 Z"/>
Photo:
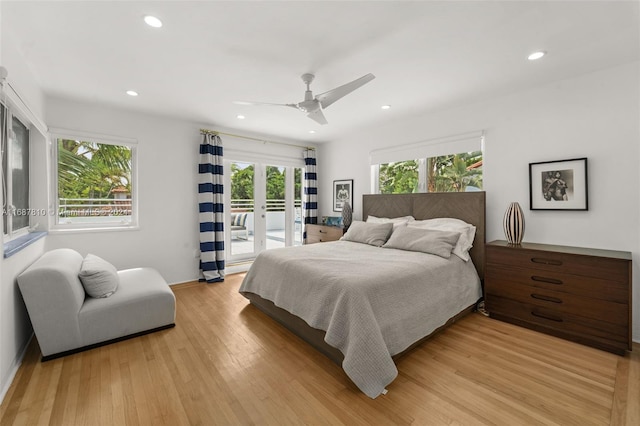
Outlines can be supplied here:
<path id="1" fill-rule="evenodd" d="M 549 244 L 486 246 L 492 318 L 624 354 L 631 350 L 631 253 Z"/>

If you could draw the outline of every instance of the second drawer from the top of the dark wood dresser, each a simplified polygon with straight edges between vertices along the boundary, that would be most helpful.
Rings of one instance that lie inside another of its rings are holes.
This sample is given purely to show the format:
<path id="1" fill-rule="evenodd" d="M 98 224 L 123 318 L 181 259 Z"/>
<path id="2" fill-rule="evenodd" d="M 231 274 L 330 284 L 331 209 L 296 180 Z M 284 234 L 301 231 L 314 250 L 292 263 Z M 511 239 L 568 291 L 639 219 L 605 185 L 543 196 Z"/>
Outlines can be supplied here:
<path id="1" fill-rule="evenodd" d="M 618 303 L 629 300 L 629 286 L 625 283 L 558 271 L 492 265 L 485 271 L 484 279 L 487 287 L 499 291 L 512 286 L 529 286 Z"/>

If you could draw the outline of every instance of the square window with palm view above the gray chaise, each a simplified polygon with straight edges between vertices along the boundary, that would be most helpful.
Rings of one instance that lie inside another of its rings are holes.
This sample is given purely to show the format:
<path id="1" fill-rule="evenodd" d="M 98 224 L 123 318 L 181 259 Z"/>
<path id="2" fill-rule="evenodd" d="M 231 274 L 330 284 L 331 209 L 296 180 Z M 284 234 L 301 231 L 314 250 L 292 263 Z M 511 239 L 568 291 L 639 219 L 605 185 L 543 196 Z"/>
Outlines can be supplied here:
<path id="1" fill-rule="evenodd" d="M 56 137 L 55 228 L 137 226 L 135 146 L 95 137 Z"/>

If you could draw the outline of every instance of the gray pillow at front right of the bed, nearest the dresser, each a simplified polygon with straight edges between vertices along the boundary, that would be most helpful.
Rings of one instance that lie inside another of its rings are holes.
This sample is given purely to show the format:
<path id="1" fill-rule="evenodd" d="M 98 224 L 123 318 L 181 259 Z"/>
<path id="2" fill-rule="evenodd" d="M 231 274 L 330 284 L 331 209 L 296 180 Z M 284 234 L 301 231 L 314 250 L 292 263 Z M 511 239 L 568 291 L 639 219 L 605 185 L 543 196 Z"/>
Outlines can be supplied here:
<path id="1" fill-rule="evenodd" d="M 448 259 L 460 238 L 459 232 L 412 227 L 396 228 L 383 248 L 418 251 Z"/>

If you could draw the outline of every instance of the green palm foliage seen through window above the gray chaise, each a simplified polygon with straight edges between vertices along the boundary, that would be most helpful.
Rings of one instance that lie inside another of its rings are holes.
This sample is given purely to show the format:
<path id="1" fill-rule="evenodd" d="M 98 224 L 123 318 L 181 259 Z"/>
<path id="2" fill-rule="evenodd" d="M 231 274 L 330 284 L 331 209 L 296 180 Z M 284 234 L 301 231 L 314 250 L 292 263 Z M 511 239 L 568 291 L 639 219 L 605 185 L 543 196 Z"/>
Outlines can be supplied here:
<path id="1" fill-rule="evenodd" d="M 58 139 L 59 198 L 113 198 L 116 188 L 131 193 L 131 148 Z"/>

